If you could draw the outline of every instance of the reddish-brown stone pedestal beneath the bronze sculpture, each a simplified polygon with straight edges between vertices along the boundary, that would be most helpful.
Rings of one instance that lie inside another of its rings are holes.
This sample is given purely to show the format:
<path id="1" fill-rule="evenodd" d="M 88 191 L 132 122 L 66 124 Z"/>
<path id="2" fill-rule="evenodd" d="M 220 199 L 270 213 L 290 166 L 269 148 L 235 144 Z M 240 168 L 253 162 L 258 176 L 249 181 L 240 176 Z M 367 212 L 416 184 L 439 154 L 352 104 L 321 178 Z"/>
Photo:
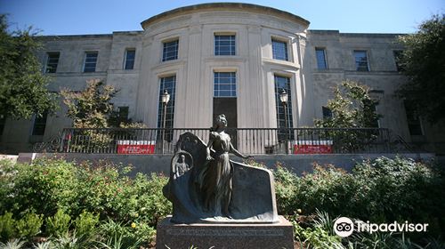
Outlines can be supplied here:
<path id="1" fill-rule="evenodd" d="M 277 223 L 174 224 L 171 217 L 158 223 L 156 248 L 294 248 L 292 224 L 279 216 Z"/>

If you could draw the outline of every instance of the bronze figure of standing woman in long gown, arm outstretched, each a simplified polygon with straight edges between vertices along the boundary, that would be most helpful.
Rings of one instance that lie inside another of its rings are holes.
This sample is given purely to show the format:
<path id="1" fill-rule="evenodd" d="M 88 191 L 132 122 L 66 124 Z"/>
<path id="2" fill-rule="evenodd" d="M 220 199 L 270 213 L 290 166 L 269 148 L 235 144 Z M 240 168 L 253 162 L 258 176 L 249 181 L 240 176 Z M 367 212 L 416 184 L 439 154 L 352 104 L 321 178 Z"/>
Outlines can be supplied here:
<path id="1" fill-rule="evenodd" d="M 214 217 L 231 217 L 229 205 L 231 203 L 233 166 L 229 160 L 229 152 L 238 157 L 249 158 L 233 148 L 231 137 L 224 133 L 226 127 L 225 116 L 223 114 L 216 116 L 215 125 L 210 132 L 206 147 L 208 165 L 201 190 L 204 208 L 208 212 L 214 213 Z M 214 157 L 210 156 L 210 149 L 214 149 Z"/>

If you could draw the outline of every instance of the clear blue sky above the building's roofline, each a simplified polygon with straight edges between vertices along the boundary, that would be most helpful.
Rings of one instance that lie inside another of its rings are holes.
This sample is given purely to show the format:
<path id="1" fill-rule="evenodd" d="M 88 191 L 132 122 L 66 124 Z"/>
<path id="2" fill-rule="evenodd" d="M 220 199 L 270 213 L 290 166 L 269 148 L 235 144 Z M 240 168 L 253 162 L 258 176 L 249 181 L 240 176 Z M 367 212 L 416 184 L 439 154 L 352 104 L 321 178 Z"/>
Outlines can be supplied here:
<path id="1" fill-rule="evenodd" d="M 242 2 L 291 12 L 311 21 L 312 29 L 351 33 L 412 33 L 433 14 L 445 12 L 444 0 L 0 0 L 11 28 L 32 25 L 41 35 L 109 34 L 142 30 L 153 15 L 191 4 Z"/>

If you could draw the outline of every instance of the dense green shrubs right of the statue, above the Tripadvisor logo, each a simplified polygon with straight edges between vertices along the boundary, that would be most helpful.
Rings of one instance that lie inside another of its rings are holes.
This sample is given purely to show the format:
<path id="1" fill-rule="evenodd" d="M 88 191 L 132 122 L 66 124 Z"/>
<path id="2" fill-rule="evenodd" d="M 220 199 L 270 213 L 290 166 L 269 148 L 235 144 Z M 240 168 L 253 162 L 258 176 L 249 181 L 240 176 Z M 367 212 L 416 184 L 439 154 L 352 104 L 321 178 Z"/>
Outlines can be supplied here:
<path id="1" fill-rule="evenodd" d="M 274 175 L 279 213 L 312 214 L 322 210 L 334 217 L 376 223 L 427 222 L 428 235 L 443 237 L 444 171 L 443 167 L 402 157 L 364 161 L 356 165 L 352 173 L 332 165 L 314 165 L 313 173 L 297 177 L 278 167 Z M 297 212 L 299 209 L 302 212 Z M 409 237 L 418 241 L 425 235 L 410 234 Z M 382 240 L 383 237 L 363 239 Z"/>

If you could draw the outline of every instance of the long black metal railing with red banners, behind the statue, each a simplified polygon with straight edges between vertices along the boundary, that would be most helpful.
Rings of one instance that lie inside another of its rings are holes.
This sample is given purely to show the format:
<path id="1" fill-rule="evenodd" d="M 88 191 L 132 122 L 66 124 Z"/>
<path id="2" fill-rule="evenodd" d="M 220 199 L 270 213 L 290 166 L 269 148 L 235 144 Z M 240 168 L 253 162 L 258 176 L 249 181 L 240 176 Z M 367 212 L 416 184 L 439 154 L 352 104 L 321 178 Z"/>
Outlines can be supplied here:
<path id="1" fill-rule="evenodd" d="M 78 129 L 61 134 L 60 152 L 111 154 L 172 154 L 182 133 L 204 142 L 206 128 Z M 261 154 L 390 153 L 390 133 L 382 128 L 227 128 L 239 152 Z M 166 135 L 168 134 L 168 135 Z M 164 138 L 164 140 L 163 140 Z"/>

